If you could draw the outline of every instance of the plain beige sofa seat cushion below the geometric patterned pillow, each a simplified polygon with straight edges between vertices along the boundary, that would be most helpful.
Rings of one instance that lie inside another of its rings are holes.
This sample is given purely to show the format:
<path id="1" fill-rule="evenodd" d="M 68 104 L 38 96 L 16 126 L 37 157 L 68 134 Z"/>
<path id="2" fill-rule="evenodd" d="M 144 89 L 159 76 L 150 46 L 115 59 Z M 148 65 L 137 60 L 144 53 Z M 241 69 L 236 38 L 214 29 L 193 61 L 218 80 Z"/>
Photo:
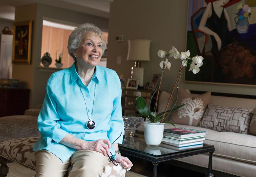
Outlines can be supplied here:
<path id="1" fill-rule="evenodd" d="M 194 127 L 195 129 L 199 127 Z M 235 132 L 216 132 L 206 136 L 204 143 L 215 147 L 213 155 L 256 164 L 256 138 Z"/>

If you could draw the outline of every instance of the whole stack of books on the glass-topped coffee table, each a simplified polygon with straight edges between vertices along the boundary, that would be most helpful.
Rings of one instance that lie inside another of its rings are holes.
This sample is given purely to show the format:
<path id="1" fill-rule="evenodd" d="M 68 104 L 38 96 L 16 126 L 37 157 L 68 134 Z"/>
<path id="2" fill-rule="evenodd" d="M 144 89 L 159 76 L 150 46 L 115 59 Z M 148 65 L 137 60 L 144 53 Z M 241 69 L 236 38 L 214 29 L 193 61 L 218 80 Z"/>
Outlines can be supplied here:
<path id="1" fill-rule="evenodd" d="M 173 145 L 176 149 L 185 149 L 192 146 L 201 147 L 205 139 L 206 132 L 187 128 L 164 129 L 162 143 Z"/>

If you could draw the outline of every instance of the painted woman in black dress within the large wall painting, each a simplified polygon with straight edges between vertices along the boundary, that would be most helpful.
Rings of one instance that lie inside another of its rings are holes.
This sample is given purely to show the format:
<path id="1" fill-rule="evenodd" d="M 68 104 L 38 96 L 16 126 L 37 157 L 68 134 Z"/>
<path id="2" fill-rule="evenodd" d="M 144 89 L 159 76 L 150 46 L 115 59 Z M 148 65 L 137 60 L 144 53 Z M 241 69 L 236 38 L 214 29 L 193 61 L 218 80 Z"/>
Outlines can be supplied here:
<path id="1" fill-rule="evenodd" d="M 214 57 L 214 82 L 254 84 L 256 58 L 243 42 L 231 36 L 231 24 L 224 7 L 238 0 L 206 0 L 207 7 L 199 24 L 199 30 L 210 35 Z M 207 26 L 206 26 L 207 25 Z"/>

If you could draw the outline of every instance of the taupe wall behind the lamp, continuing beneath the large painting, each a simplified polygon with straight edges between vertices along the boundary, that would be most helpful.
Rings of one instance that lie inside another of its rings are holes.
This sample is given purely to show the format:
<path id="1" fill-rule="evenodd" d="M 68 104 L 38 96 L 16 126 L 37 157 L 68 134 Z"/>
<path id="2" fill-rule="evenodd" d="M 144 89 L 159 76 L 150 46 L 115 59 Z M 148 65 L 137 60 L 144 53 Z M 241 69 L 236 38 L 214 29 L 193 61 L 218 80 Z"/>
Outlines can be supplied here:
<path id="1" fill-rule="evenodd" d="M 133 62 L 126 61 L 128 39 L 150 39 L 150 62 L 142 62 L 144 68 L 144 85 L 160 73 L 157 56 L 158 50 L 169 51 L 172 46 L 179 51 L 186 49 L 187 34 L 187 0 L 118 0 L 111 2 L 108 38 L 107 67 L 123 73 L 125 81 L 130 76 Z M 116 42 L 116 35 L 124 35 L 124 42 Z M 117 65 L 117 56 L 122 57 L 121 65 Z M 171 70 L 165 70 L 162 90 L 170 91 L 176 79 L 180 60 L 172 59 Z M 181 81 L 181 86 L 190 90 L 213 91 L 256 95 L 255 87 L 192 84 Z"/>

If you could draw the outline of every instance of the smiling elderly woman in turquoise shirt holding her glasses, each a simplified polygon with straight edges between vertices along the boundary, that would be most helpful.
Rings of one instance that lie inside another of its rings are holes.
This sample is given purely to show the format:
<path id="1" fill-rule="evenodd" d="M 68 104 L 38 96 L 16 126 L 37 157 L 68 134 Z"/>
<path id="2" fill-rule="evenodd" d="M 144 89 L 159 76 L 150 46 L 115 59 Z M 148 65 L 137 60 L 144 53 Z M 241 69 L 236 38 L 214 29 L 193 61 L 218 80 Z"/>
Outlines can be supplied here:
<path id="1" fill-rule="evenodd" d="M 36 177 L 101 176 L 108 161 L 125 168 L 121 84 L 116 72 L 98 66 L 106 49 L 100 29 L 86 23 L 69 36 L 70 68 L 53 73 L 38 116 L 41 138 L 33 147 Z"/>

